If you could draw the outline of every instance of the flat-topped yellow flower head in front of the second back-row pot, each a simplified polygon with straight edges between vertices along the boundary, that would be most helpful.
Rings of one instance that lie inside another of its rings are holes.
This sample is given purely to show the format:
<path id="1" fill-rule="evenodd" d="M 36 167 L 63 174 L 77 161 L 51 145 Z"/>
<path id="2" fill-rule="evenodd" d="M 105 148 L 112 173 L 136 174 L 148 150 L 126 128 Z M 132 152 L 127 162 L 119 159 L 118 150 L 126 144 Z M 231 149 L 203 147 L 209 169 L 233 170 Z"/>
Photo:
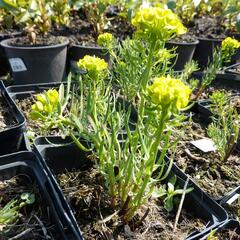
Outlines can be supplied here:
<path id="1" fill-rule="evenodd" d="M 101 58 L 86 55 L 77 63 L 78 67 L 88 72 L 101 72 L 107 69 L 108 64 Z"/>

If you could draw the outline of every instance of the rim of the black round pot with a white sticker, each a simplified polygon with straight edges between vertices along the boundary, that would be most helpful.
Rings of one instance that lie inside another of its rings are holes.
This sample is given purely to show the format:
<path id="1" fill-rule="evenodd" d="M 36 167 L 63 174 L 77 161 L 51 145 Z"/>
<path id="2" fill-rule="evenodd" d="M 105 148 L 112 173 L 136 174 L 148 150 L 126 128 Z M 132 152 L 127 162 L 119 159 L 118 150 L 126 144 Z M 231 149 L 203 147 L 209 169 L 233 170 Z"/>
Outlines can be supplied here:
<path id="1" fill-rule="evenodd" d="M 10 42 L 19 39 L 19 38 L 10 38 L 10 39 L 6 39 L 1 41 L 1 46 L 4 48 L 10 48 L 10 49 L 25 49 L 25 50 L 33 50 L 33 49 L 52 49 L 52 48 L 59 48 L 59 47 L 65 47 L 69 44 L 69 40 L 66 37 L 62 37 L 64 39 L 63 43 L 56 43 L 56 44 L 52 44 L 52 45 L 46 45 L 46 46 L 20 46 L 20 45 L 9 45 Z"/>

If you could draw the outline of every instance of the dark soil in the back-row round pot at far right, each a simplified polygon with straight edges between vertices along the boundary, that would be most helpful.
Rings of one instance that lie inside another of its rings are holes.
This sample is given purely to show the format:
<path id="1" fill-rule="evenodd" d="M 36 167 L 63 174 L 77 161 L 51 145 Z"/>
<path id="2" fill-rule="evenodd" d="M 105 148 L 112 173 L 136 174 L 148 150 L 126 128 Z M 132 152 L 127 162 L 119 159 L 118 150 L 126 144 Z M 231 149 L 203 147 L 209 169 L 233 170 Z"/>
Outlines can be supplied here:
<path id="1" fill-rule="evenodd" d="M 226 29 L 219 23 L 219 17 L 202 16 L 194 19 L 194 27 L 189 29 L 196 37 L 210 39 L 224 39 Z"/>

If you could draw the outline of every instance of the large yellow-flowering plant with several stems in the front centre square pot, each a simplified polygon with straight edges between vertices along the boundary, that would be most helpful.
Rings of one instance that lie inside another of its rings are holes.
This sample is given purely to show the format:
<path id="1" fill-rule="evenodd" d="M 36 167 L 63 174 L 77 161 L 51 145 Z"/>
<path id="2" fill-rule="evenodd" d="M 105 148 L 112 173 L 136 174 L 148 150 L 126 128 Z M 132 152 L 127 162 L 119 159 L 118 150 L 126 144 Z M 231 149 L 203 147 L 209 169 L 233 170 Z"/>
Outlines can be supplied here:
<path id="1" fill-rule="evenodd" d="M 114 236 L 114 234 L 121 235 L 124 234 L 124 232 L 126 233 L 126 230 L 124 230 L 126 228 L 131 232 L 136 231 L 136 234 L 138 234 L 136 236 L 140 236 L 137 232 L 138 230 L 134 228 L 134 226 L 136 226 L 135 219 L 139 216 L 137 218 L 140 219 L 140 223 L 142 223 L 144 219 L 148 217 L 150 211 L 147 210 L 148 207 L 145 208 L 144 205 L 151 201 L 153 197 L 152 193 L 156 193 L 156 196 L 159 197 L 163 194 L 164 206 L 168 210 L 171 210 L 173 209 L 172 197 L 177 193 L 185 192 L 186 194 L 190 191 L 187 190 L 187 184 L 185 190 L 176 190 L 174 187 L 176 181 L 173 180 L 172 182 L 172 180 L 170 180 L 171 178 L 169 178 L 173 158 L 171 157 L 170 160 L 167 160 L 165 155 L 167 149 L 175 146 L 177 142 L 171 141 L 170 134 L 172 133 L 171 130 L 174 124 L 180 124 L 182 118 L 179 116 L 176 121 L 173 119 L 178 116 L 179 110 L 188 104 L 191 90 L 181 79 L 172 78 L 170 75 L 151 79 L 151 70 L 153 70 L 154 66 L 151 61 L 153 60 L 153 54 L 155 51 L 157 52 L 157 50 L 159 50 L 158 47 L 161 46 L 159 43 L 161 41 L 164 42 L 173 34 L 181 33 L 181 29 L 174 29 L 172 32 L 168 32 L 168 26 L 165 26 L 164 38 L 160 38 L 163 33 L 162 29 L 159 32 L 153 31 L 153 29 L 159 29 L 157 27 L 158 24 L 166 23 L 164 19 L 162 19 L 160 22 L 156 21 L 155 25 L 149 24 L 148 28 L 144 28 L 146 32 L 143 32 L 141 21 L 147 24 L 149 19 L 147 16 L 154 14 L 153 12 L 157 14 L 157 16 L 155 16 L 156 18 L 159 17 L 158 15 L 162 15 L 162 13 L 165 13 L 163 14 L 165 17 L 169 15 L 172 16 L 171 11 L 165 12 L 165 10 L 161 8 L 149 8 L 142 9 L 138 12 L 133 20 L 134 24 L 138 27 L 138 36 L 141 37 L 141 40 L 146 44 L 145 46 L 150 46 L 150 49 L 145 49 L 145 52 L 147 51 L 148 53 L 148 61 L 147 64 L 145 64 L 145 68 L 142 69 L 140 74 L 137 72 L 137 74 L 140 75 L 140 82 L 139 88 L 137 88 L 138 118 L 135 130 L 131 131 L 129 129 L 130 112 L 126 112 L 124 109 L 116 111 L 117 100 L 115 94 L 111 91 L 109 92 L 111 85 L 109 85 L 109 79 L 106 78 L 107 63 L 97 57 L 85 56 L 78 62 L 79 67 L 84 69 L 86 74 L 80 76 L 78 81 L 80 84 L 79 90 L 76 90 L 75 94 L 71 94 L 73 99 L 71 100 L 70 107 L 66 107 L 68 104 L 66 104 L 65 99 L 68 97 L 63 94 L 63 90 L 60 91 L 61 94 L 58 93 L 58 96 L 61 96 L 60 98 L 57 97 L 55 92 L 54 98 L 52 98 L 54 104 L 51 104 L 50 108 L 49 101 L 46 101 L 47 96 L 51 93 L 50 91 L 45 92 L 44 95 L 39 95 L 32 106 L 31 117 L 39 126 L 43 129 L 49 129 L 52 126 L 61 127 L 62 131 L 71 137 L 72 141 L 82 152 L 89 152 L 91 154 L 91 156 L 88 156 L 86 153 L 85 159 L 88 159 L 87 163 L 89 164 L 91 158 L 93 160 L 93 166 L 90 164 L 90 168 L 86 169 L 86 171 L 75 171 L 76 174 L 82 175 L 82 177 L 78 175 L 79 177 L 77 179 L 80 180 L 78 185 L 86 186 L 86 183 L 83 183 L 81 180 L 85 179 L 93 183 L 94 186 L 98 185 L 98 189 L 102 189 L 102 196 L 104 197 L 101 198 L 99 206 L 101 209 L 106 209 L 106 215 L 104 212 L 103 221 L 111 231 L 108 230 L 106 232 L 105 229 L 101 228 L 101 223 L 100 225 L 98 224 L 96 209 L 93 207 L 95 206 L 95 200 L 93 198 L 91 198 L 92 201 L 87 203 L 90 204 L 91 207 L 86 209 L 82 201 L 83 199 L 81 199 L 83 195 L 74 194 L 74 197 L 71 198 L 71 196 L 73 196 L 72 193 L 68 195 L 68 187 L 64 188 L 64 186 L 66 186 L 65 184 L 63 186 L 63 190 L 69 198 L 69 201 L 76 206 L 75 210 L 86 210 L 84 213 L 80 212 L 78 215 L 84 218 L 86 216 L 88 221 L 90 221 L 90 223 L 88 222 L 89 224 L 86 225 L 84 224 L 86 221 L 82 221 L 82 218 L 79 218 L 80 226 L 85 236 L 98 236 L 96 229 L 102 229 L 100 230 L 100 234 L 110 234 L 110 236 Z M 146 16 L 146 19 L 142 18 L 142 16 Z M 173 24 L 179 23 L 178 21 L 178 18 L 175 18 Z M 181 27 L 182 25 L 180 24 L 179 26 Z M 158 41 L 156 41 L 156 39 L 158 39 Z M 147 45 L 148 43 L 151 44 Z M 139 45 L 137 46 L 140 48 Z M 119 62 L 117 64 L 119 64 Z M 132 64 L 135 64 L 135 62 Z M 132 79 L 129 81 L 131 80 Z M 76 94 L 77 92 L 80 92 L 80 94 Z M 123 127 L 126 129 L 124 138 L 121 137 L 123 135 Z M 80 137 L 85 138 L 87 141 L 82 141 Z M 162 151 L 159 151 L 159 145 Z M 46 152 L 54 153 L 56 151 L 50 147 Z M 63 154 L 61 155 L 63 156 Z M 55 159 L 53 159 L 53 162 L 56 161 Z M 51 163 L 52 167 L 54 165 L 53 162 Z M 64 163 L 66 161 L 61 162 Z M 84 166 L 85 162 L 84 160 L 81 166 Z M 70 163 L 70 161 L 68 163 Z M 74 172 L 71 174 L 75 176 Z M 91 176 L 91 180 L 86 176 Z M 123 176 L 126 177 L 123 178 Z M 58 176 L 58 182 L 63 183 L 63 179 L 69 178 L 62 174 Z M 161 186 L 165 181 L 166 183 L 170 182 L 168 186 L 170 186 L 170 189 L 174 192 L 171 196 L 167 193 L 169 190 L 167 187 L 165 187 L 163 191 L 157 190 L 156 192 L 154 190 L 158 189 L 157 183 Z M 103 185 L 101 185 L 102 183 Z M 184 187 L 184 184 L 181 185 L 181 187 Z M 94 190 L 93 192 L 91 191 L 91 189 L 93 189 L 92 186 L 87 187 L 87 189 L 89 189 L 89 191 L 87 190 L 85 192 L 87 195 L 84 199 L 95 192 Z M 79 191 L 75 191 L 75 193 L 82 193 L 81 189 L 78 190 Z M 138 215 L 141 209 L 142 215 Z M 106 220 L 104 220 L 105 218 Z M 120 225 L 116 227 L 115 224 L 112 225 L 115 219 L 118 219 L 117 221 L 120 222 Z M 95 228 L 96 222 L 97 228 Z M 178 220 L 176 220 L 176 222 L 178 222 Z M 172 229 L 170 231 L 172 231 Z M 175 231 L 176 229 L 174 232 Z M 159 236 L 163 236 L 165 233 L 160 231 L 159 234 Z M 178 233 L 174 234 L 177 235 Z M 186 234 L 186 232 L 183 234 Z M 150 235 L 147 235 L 147 237 L 148 236 Z M 197 239 L 199 236 L 201 236 L 201 234 L 197 236 L 192 234 L 189 236 L 189 239 L 194 239 L 194 237 Z"/>

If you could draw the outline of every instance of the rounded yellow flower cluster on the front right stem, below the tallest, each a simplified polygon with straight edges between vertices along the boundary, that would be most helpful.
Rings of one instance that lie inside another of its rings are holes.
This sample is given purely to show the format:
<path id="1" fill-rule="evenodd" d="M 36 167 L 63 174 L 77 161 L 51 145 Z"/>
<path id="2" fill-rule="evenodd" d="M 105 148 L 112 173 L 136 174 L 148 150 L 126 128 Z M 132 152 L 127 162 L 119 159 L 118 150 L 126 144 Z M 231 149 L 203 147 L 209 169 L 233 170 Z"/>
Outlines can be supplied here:
<path id="1" fill-rule="evenodd" d="M 182 109 L 188 105 L 191 89 L 180 79 L 167 77 L 155 78 L 148 87 L 151 101 L 162 108 Z"/>

